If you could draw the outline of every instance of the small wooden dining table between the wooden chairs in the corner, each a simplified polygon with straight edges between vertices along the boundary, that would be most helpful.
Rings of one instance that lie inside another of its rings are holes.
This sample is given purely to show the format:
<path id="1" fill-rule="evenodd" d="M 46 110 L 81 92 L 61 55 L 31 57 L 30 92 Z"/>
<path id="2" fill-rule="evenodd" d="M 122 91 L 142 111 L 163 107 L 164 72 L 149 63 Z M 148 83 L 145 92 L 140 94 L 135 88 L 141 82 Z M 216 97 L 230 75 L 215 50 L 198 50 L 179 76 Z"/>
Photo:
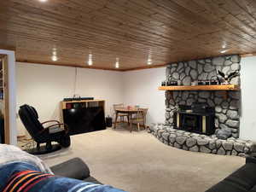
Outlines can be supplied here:
<path id="1" fill-rule="evenodd" d="M 115 108 L 115 121 L 114 121 L 113 129 L 116 128 L 119 113 L 127 114 L 128 125 L 130 125 L 130 131 L 132 131 L 132 122 L 131 122 L 132 114 L 141 113 L 143 115 L 143 119 L 145 119 L 143 109 L 140 109 L 140 108 Z M 145 126 L 145 122 L 143 122 L 143 125 Z"/>

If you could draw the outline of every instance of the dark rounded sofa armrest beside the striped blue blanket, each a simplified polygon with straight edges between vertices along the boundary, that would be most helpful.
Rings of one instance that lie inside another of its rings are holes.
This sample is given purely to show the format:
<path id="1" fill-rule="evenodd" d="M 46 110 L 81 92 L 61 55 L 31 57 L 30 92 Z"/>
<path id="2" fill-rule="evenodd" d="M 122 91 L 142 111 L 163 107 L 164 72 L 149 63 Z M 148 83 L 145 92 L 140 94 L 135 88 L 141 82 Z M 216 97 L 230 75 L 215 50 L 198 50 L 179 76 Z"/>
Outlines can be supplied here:
<path id="1" fill-rule="evenodd" d="M 89 167 L 79 158 L 67 160 L 59 165 L 50 167 L 55 175 L 62 177 L 71 177 L 79 180 L 90 177 Z"/>

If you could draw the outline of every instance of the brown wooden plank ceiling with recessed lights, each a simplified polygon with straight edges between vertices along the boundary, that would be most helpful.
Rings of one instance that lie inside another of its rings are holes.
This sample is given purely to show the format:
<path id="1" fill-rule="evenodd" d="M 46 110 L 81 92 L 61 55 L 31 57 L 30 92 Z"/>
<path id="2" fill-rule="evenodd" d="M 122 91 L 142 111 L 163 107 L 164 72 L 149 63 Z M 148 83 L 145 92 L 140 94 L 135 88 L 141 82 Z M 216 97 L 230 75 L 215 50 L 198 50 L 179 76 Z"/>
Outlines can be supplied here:
<path id="1" fill-rule="evenodd" d="M 149 52 L 152 66 L 256 52 L 254 0 L 3 0 L 0 26 L 17 61 L 56 65 L 87 67 L 90 51 L 119 70 L 149 67 Z"/>

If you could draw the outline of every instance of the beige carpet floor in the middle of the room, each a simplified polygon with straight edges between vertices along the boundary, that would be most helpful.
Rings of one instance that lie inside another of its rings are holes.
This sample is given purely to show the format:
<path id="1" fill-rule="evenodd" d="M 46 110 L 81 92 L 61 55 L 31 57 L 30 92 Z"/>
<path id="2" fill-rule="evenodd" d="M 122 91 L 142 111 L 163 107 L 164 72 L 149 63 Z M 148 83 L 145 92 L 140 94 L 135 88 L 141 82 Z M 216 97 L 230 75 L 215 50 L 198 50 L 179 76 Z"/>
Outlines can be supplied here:
<path id="1" fill-rule="evenodd" d="M 93 177 L 130 192 L 203 192 L 244 158 L 172 148 L 146 131 L 118 128 L 72 137 L 72 146 L 41 158 L 49 165 L 82 158 Z"/>

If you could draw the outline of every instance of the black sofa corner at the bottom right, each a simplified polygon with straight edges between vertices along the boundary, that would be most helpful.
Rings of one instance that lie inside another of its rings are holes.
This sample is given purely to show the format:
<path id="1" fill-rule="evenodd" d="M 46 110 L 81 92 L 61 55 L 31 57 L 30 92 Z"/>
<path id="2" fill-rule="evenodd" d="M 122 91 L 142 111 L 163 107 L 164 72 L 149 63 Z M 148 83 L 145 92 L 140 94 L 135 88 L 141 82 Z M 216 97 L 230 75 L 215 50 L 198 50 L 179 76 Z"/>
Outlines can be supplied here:
<path id="1" fill-rule="evenodd" d="M 206 192 L 256 192 L 256 158 L 247 157 L 244 166 Z"/>

